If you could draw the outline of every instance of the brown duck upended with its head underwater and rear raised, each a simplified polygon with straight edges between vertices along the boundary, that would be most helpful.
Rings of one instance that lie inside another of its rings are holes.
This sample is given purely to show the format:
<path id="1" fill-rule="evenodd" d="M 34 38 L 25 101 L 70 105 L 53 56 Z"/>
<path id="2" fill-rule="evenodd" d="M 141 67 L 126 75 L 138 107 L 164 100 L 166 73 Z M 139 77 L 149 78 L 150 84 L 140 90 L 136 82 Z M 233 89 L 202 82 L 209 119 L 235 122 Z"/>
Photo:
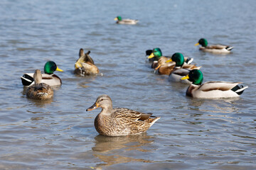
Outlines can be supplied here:
<path id="1" fill-rule="evenodd" d="M 99 69 L 95 66 L 89 54 L 90 51 L 85 54 L 82 48 L 79 50 L 79 59 L 75 62 L 75 74 L 90 75 L 99 73 Z"/>

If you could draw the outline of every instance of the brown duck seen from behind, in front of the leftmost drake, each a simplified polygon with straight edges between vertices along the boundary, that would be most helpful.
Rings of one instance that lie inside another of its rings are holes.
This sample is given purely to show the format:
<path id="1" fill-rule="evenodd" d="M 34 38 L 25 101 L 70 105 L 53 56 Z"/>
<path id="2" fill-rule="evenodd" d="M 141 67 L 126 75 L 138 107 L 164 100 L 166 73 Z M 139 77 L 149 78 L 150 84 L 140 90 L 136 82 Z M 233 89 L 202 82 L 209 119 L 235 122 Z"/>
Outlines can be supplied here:
<path id="1" fill-rule="evenodd" d="M 36 69 L 33 79 L 35 84 L 28 87 L 26 91 L 27 98 L 46 100 L 53 97 L 53 89 L 48 84 L 41 83 L 42 74 L 40 69 Z"/>

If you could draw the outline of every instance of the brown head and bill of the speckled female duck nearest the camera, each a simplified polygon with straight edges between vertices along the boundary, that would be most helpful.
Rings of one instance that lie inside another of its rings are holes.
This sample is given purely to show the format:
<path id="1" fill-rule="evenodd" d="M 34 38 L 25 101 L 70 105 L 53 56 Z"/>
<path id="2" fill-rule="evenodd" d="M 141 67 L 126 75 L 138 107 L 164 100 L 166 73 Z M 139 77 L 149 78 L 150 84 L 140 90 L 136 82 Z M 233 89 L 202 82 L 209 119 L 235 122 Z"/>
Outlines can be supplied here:
<path id="1" fill-rule="evenodd" d="M 102 108 L 102 110 L 108 108 L 112 109 L 112 100 L 110 96 L 107 96 L 106 94 L 99 96 L 96 99 L 95 103 L 92 106 L 90 106 L 90 108 L 87 108 L 86 111 L 92 111 L 95 108 Z"/>

